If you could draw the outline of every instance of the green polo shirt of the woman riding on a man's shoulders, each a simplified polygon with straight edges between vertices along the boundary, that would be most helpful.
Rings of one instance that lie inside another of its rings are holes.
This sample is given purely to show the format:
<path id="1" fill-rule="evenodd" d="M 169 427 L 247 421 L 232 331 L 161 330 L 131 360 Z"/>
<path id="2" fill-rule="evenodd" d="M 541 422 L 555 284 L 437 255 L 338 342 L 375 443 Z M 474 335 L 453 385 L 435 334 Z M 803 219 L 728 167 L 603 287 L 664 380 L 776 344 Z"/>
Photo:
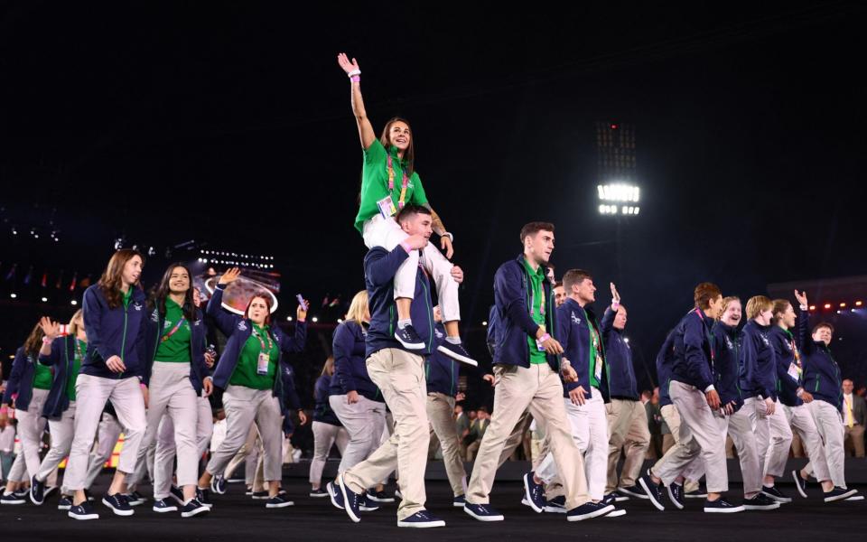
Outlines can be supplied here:
<path id="1" fill-rule="evenodd" d="M 391 164 L 395 170 L 395 187 L 388 192 L 388 153 L 386 148 L 375 139 L 364 151 L 364 166 L 361 169 L 361 202 L 359 214 L 355 217 L 355 229 L 363 233 L 363 225 L 379 213 L 377 201 L 391 195 L 391 201 L 397 207 L 400 201 L 400 191 L 404 177 L 404 162 L 397 157 L 397 147 L 391 147 Z M 426 205 L 422 180 L 418 173 L 413 172 L 406 182 L 404 203 Z"/>

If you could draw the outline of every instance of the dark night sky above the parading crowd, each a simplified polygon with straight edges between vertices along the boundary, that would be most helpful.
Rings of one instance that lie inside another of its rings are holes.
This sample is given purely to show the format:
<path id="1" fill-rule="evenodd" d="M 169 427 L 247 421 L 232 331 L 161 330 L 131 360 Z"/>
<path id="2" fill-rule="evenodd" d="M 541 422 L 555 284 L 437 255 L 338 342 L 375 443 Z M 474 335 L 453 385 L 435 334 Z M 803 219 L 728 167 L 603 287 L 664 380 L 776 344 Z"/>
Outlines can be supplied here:
<path id="1" fill-rule="evenodd" d="M 648 356 L 699 281 L 746 297 L 867 274 L 857 3 L 250 4 L 5 5 L 0 274 L 98 272 L 124 231 L 273 254 L 286 294 L 359 289 L 361 153 L 338 51 L 359 59 L 376 130 L 412 122 L 475 324 L 529 220 L 555 222 L 553 262 L 592 270 L 601 302 L 620 285 Z M 637 130 L 643 201 L 620 266 L 596 212 L 598 120 Z M 61 243 L 10 235 L 53 208 Z"/>

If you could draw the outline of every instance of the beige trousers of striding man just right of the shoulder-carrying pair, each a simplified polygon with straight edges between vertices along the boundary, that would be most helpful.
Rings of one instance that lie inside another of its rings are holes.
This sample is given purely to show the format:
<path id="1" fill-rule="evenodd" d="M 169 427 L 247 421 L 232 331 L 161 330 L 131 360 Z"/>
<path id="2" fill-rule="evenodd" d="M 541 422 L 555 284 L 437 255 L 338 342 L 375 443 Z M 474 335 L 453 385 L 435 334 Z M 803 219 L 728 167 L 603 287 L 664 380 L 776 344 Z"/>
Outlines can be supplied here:
<path id="1" fill-rule="evenodd" d="M 488 504 L 499 459 L 508 435 L 518 418 L 529 407 L 536 424 L 542 425 L 566 497 L 566 509 L 590 500 L 584 476 L 584 460 L 572 437 L 572 425 L 566 416 L 563 384 L 547 363 L 529 368 L 517 365 L 494 367 L 494 415 L 481 441 L 473 465 L 467 502 Z"/>

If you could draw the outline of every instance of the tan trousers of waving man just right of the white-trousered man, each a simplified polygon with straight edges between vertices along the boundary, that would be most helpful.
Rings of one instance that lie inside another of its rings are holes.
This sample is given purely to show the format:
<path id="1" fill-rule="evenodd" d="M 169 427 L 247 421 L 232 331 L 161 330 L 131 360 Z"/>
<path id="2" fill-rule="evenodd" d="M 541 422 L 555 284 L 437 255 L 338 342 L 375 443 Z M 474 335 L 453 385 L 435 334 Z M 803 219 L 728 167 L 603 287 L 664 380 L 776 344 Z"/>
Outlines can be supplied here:
<path id="1" fill-rule="evenodd" d="M 641 401 L 611 399 L 605 406 L 608 413 L 608 481 L 605 492 L 611 493 L 618 487 L 630 488 L 641 475 L 644 456 L 650 445 L 648 413 Z M 620 473 L 620 486 L 617 483 L 617 463 L 620 450 L 626 444 L 626 460 Z M 594 497 L 595 498 L 595 497 Z"/>

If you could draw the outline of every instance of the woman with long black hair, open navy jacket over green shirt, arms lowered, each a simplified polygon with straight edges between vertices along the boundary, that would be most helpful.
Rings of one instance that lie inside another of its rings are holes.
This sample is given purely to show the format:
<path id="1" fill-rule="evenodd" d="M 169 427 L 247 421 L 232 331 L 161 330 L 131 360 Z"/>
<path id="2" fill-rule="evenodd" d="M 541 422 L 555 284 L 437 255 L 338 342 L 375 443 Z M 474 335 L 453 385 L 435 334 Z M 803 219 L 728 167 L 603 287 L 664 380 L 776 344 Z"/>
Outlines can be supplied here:
<path id="1" fill-rule="evenodd" d="M 181 517 L 191 518 L 209 511 L 196 499 L 199 478 L 196 425 L 197 397 L 202 392 L 209 396 L 213 383 L 205 364 L 205 326 L 193 299 L 190 269 L 180 263 L 168 266 L 154 290 L 150 308 L 143 380 L 148 395 L 147 430 L 138 451 L 138 468 L 127 483 L 138 481 L 138 474 L 144 471 L 141 467 L 147 448 L 156 439 L 163 415 L 169 416 L 177 446 L 178 486 L 183 491 Z M 163 480 L 166 469 L 154 464 L 155 512 L 177 510 L 166 491 L 171 486 L 171 468 L 168 471 L 169 480 Z"/>

